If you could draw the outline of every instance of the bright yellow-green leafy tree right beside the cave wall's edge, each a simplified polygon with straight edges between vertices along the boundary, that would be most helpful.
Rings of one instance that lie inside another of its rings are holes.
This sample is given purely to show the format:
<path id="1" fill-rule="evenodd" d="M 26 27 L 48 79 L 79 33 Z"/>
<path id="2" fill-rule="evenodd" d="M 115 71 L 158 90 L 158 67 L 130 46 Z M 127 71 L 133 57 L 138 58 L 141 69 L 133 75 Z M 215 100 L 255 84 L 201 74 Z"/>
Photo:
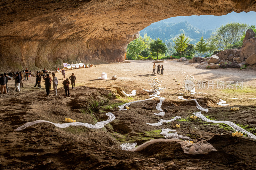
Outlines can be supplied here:
<path id="1" fill-rule="evenodd" d="M 134 60 L 136 59 L 140 52 L 142 50 L 144 50 L 146 48 L 146 44 L 144 43 L 144 41 L 142 40 L 142 37 L 139 36 L 139 38 L 133 40 L 132 42 L 130 42 L 127 46 L 127 58 L 129 60 Z"/>

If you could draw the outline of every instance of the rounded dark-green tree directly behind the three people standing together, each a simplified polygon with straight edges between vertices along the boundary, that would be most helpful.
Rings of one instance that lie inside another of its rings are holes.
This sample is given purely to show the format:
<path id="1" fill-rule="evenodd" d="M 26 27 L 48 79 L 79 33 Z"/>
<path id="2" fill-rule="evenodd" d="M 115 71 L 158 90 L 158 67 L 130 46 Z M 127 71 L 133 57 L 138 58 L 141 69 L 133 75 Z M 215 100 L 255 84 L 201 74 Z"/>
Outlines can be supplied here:
<path id="1" fill-rule="evenodd" d="M 167 51 L 167 47 L 166 47 L 165 43 L 162 40 L 160 40 L 159 38 L 156 39 L 155 41 L 151 42 L 149 44 L 149 46 L 150 46 L 150 48 L 149 48 L 150 52 L 152 54 L 157 54 L 157 59 L 158 59 L 159 54 L 164 55 Z"/>

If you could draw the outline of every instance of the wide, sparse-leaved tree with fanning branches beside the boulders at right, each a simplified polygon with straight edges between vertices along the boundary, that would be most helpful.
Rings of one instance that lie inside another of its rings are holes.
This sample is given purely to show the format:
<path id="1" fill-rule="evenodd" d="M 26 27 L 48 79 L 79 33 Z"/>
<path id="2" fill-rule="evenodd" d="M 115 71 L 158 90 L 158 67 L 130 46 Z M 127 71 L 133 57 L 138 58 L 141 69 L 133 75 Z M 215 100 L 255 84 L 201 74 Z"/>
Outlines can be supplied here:
<path id="1" fill-rule="evenodd" d="M 221 37 L 225 48 L 227 48 L 229 44 L 235 44 L 239 41 L 247 28 L 247 24 L 232 22 L 217 28 L 216 33 Z"/>

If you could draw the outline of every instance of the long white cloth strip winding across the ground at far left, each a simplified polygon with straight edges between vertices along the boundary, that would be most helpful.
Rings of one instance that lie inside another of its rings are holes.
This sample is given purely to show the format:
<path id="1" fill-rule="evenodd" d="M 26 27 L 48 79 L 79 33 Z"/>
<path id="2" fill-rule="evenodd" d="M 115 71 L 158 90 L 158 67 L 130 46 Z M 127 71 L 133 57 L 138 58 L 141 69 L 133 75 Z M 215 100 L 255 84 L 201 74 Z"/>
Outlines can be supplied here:
<path id="1" fill-rule="evenodd" d="M 72 122 L 72 123 L 53 123 L 53 122 L 49 122 L 49 121 L 44 121 L 44 120 L 37 120 L 34 122 L 27 122 L 24 125 L 18 127 L 17 129 L 15 129 L 15 131 L 22 131 L 25 128 L 32 126 L 36 123 L 42 123 L 42 122 L 46 122 L 46 123 L 52 123 L 53 125 L 57 126 L 58 128 L 66 128 L 69 126 L 84 126 L 90 129 L 100 129 L 103 128 L 104 125 L 108 124 L 109 122 L 112 122 L 113 120 L 115 120 L 115 115 L 113 115 L 112 113 L 108 112 L 106 113 L 108 117 L 108 119 L 106 121 L 102 121 L 102 122 L 97 122 L 95 125 L 89 124 L 89 123 L 81 123 L 81 122 Z"/>

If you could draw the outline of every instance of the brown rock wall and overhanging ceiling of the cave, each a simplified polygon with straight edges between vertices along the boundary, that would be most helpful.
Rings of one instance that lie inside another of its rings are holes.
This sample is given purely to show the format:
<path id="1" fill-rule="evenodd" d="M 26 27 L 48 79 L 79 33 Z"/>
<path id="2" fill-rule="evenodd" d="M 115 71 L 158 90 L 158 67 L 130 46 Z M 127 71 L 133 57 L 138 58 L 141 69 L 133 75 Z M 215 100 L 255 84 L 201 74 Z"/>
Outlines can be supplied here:
<path id="1" fill-rule="evenodd" d="M 153 22 L 176 16 L 256 11 L 255 0 L 2 0 L 0 70 L 56 69 L 63 62 L 124 60 Z M 213 23 L 214 24 L 214 23 Z"/>

